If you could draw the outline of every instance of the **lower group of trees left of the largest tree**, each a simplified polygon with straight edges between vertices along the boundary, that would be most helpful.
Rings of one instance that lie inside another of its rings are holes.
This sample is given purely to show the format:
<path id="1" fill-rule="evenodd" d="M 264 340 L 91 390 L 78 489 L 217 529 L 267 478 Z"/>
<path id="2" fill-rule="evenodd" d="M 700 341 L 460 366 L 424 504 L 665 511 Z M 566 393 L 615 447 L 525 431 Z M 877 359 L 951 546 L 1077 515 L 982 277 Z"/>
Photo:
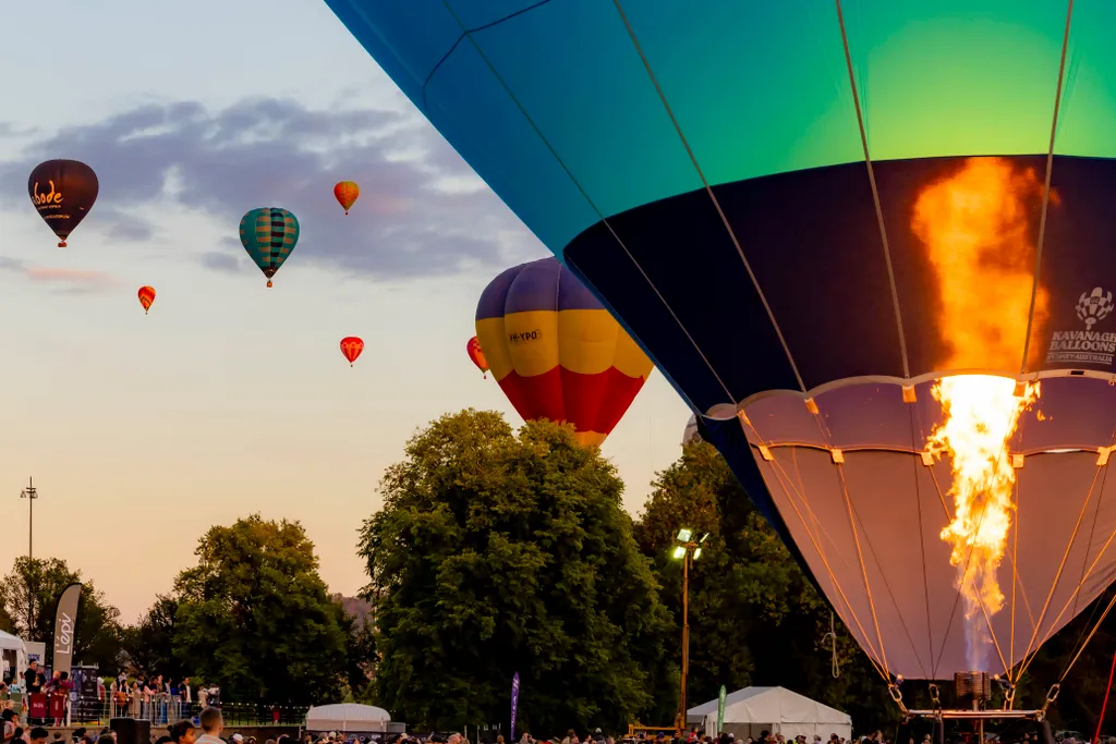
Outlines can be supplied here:
<path id="1" fill-rule="evenodd" d="M 49 660 L 55 602 L 81 581 L 74 660 L 103 675 L 190 676 L 227 700 L 269 704 L 336 702 L 367 686 L 371 631 L 327 593 L 300 524 L 252 515 L 214 526 L 195 555 L 133 626 L 65 561 L 19 558 L 0 580 L 0 627 L 46 641 Z"/>

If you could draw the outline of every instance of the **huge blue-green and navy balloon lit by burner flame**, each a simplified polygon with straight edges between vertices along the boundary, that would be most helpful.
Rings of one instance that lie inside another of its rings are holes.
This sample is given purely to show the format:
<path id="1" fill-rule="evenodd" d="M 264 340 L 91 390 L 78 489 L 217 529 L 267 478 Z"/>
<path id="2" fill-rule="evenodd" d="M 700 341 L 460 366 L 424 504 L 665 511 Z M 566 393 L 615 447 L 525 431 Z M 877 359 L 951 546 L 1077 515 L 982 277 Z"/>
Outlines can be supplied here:
<path id="1" fill-rule="evenodd" d="M 1014 707 L 1116 578 L 1116 3 L 326 2 L 639 339 L 899 705 L 999 673 Z"/>

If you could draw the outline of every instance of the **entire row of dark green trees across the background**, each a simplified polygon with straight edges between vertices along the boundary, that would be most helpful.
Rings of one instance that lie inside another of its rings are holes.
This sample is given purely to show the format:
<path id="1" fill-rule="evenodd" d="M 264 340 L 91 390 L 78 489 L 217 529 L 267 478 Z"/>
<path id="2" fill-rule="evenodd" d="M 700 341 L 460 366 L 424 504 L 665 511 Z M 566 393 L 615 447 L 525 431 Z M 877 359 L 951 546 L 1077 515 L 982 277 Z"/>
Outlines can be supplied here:
<path id="1" fill-rule="evenodd" d="M 506 722 L 518 673 L 517 731 L 671 725 L 682 641 L 671 552 L 684 526 L 710 534 L 690 572 L 690 706 L 721 685 L 781 685 L 849 713 L 860 733 L 897 722 L 867 657 L 715 450 L 687 446 L 636 519 L 623 491 L 613 464 L 567 427 L 445 415 L 387 468 L 384 506 L 359 530 L 367 624 L 327 593 L 301 525 L 252 515 L 202 535 L 196 564 L 134 626 L 85 581 L 75 660 L 106 675 L 127 665 L 190 676 L 225 700 L 352 696 L 443 731 Z M 64 561 L 17 560 L 0 579 L 0 627 L 49 641 L 55 600 L 76 580 Z M 1043 647 L 1017 706 L 1041 706 L 1109 598 Z M 1062 684 L 1048 712 L 1056 727 L 1095 731 L 1114 622 Z M 925 685 L 903 693 L 931 707 Z"/>

